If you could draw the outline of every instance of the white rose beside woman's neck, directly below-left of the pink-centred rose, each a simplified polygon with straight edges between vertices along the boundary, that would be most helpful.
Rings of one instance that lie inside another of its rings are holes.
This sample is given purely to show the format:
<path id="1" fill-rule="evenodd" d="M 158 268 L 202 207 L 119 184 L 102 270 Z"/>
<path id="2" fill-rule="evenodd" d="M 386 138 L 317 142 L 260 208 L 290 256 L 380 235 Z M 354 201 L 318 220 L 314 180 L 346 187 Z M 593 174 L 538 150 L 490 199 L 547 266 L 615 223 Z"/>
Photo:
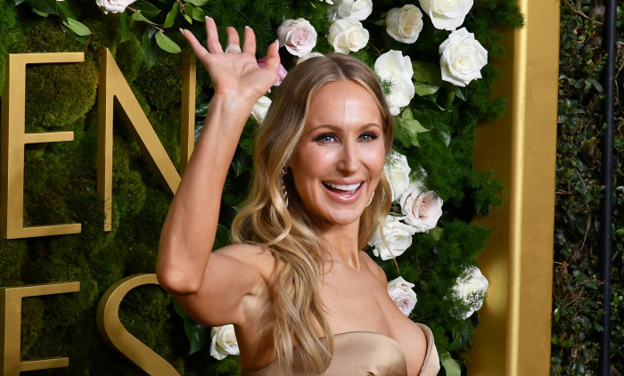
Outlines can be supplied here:
<path id="1" fill-rule="evenodd" d="M 368 245 L 374 247 L 373 254 L 382 257 L 382 260 L 390 260 L 403 254 L 412 245 L 412 235 L 415 229 L 411 225 L 401 222 L 403 217 L 386 216 L 383 222 L 383 236 L 388 242 L 388 246 L 382 241 L 382 233 L 379 227 L 375 230 L 373 238 L 368 241 Z"/>

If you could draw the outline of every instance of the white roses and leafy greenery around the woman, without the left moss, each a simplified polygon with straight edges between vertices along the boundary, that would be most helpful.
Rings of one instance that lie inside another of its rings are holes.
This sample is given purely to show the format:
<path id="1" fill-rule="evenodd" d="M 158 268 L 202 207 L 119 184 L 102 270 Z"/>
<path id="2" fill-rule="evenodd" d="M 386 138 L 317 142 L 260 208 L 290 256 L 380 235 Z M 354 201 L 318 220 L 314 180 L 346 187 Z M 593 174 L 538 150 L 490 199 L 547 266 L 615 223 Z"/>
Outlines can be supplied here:
<path id="1" fill-rule="evenodd" d="M 68 3 L 19 6 L 59 17 L 62 28 L 86 40 L 97 30 Z M 250 26 L 258 51 L 278 39 L 282 77 L 319 53 L 350 53 L 373 68 L 395 116 L 395 142 L 384 168 L 392 201 L 383 221 L 385 241 L 378 231 L 366 251 L 388 274 L 389 294 L 399 309 L 431 327 L 445 368 L 467 361 L 479 323 L 478 315 L 468 313 L 479 309 L 487 288 L 484 277 L 477 276 L 475 284 L 469 275 L 477 274 L 476 255 L 489 236 L 488 229 L 471 221 L 500 203 L 502 188 L 489 173 L 472 169 L 472 140 L 478 120 L 505 110 L 502 99 L 489 91 L 497 77 L 489 61 L 504 56 L 496 27 L 521 26 L 515 0 L 96 0 L 96 5 L 102 10 L 96 17 L 117 25 L 120 45 L 139 45 L 147 69 L 178 56 L 185 46 L 178 28 L 203 37 L 205 15 L 220 26 Z M 205 75 L 199 73 L 198 82 L 200 127 L 211 91 Z M 246 194 L 253 131 L 279 82 L 254 106 L 234 156 L 224 194 L 223 205 L 231 208 L 222 210 L 225 227 Z M 235 353 L 232 328 L 214 329 L 211 335 L 188 328 L 213 338 L 211 354 Z"/>

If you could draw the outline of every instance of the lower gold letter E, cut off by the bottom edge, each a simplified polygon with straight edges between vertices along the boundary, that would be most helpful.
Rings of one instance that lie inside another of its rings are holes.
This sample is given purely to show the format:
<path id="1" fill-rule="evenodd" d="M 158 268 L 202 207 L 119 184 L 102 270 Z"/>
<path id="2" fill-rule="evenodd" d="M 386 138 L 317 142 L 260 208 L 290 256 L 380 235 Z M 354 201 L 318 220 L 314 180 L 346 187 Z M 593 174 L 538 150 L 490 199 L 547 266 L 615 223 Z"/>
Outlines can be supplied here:
<path id="1" fill-rule="evenodd" d="M 21 298 L 77 292 L 80 282 L 33 284 L 0 289 L 0 376 L 19 376 L 20 372 L 67 367 L 70 359 L 52 357 L 21 361 Z"/>

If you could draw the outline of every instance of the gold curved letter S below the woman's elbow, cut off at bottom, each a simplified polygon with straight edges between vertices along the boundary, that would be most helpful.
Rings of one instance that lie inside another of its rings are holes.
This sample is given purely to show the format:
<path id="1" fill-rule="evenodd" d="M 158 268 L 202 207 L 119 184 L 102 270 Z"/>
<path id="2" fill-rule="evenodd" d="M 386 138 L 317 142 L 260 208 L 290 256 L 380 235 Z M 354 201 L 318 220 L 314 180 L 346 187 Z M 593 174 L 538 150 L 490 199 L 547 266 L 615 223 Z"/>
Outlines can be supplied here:
<path id="1" fill-rule="evenodd" d="M 111 347 L 144 372 L 152 376 L 180 376 L 171 364 L 136 339 L 119 321 L 121 300 L 129 290 L 145 284 L 158 285 L 156 274 L 130 275 L 109 287 L 97 306 L 97 328 Z"/>

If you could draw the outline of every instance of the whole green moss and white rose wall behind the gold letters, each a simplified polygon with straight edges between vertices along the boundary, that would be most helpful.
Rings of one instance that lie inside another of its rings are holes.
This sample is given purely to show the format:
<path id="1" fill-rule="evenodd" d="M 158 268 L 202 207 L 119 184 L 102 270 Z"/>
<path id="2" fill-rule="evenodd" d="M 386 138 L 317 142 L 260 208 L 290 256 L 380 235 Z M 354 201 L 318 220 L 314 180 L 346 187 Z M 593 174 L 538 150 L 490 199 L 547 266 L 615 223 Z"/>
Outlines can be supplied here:
<path id="1" fill-rule="evenodd" d="M 202 20 L 209 15 L 221 27 L 253 28 L 259 51 L 277 38 L 282 75 L 300 59 L 333 52 L 352 54 L 376 71 L 396 116 L 394 151 L 385 170 L 393 207 L 384 228 L 390 248 L 376 234 L 365 250 L 388 274 L 390 296 L 401 310 L 431 327 L 442 372 L 465 373 L 479 326 L 475 311 L 487 287 L 476 255 L 489 229 L 472 219 L 499 205 L 503 189 L 495 176 L 472 168 L 474 128 L 505 111 L 505 101 L 490 94 L 497 78 L 492 62 L 505 59 L 501 32 L 520 27 L 522 18 L 512 0 L 462 0 L 451 8 L 443 3 L 1 0 L 0 83 L 4 53 L 85 53 L 83 63 L 37 65 L 27 73 L 27 132 L 70 130 L 75 138 L 27 147 L 26 224 L 79 222 L 82 232 L 0 241 L 0 286 L 79 281 L 81 289 L 24 299 L 22 357 L 70 357 L 69 368 L 45 372 L 50 374 L 140 374 L 104 344 L 95 307 L 113 282 L 153 273 L 171 196 L 117 116 L 113 227 L 103 232 L 103 203 L 95 186 L 98 53 L 111 50 L 177 164 L 180 52 L 188 49 L 177 29 L 204 38 Z M 225 28 L 219 31 L 225 35 Z M 201 67 L 197 81 L 200 132 L 212 94 Z M 227 228 L 250 181 L 254 131 L 278 90 L 260 99 L 243 132 L 226 181 L 219 244 L 228 241 Z M 120 318 L 181 374 L 237 369 L 232 331 L 194 324 L 157 287 L 131 291 Z"/>

